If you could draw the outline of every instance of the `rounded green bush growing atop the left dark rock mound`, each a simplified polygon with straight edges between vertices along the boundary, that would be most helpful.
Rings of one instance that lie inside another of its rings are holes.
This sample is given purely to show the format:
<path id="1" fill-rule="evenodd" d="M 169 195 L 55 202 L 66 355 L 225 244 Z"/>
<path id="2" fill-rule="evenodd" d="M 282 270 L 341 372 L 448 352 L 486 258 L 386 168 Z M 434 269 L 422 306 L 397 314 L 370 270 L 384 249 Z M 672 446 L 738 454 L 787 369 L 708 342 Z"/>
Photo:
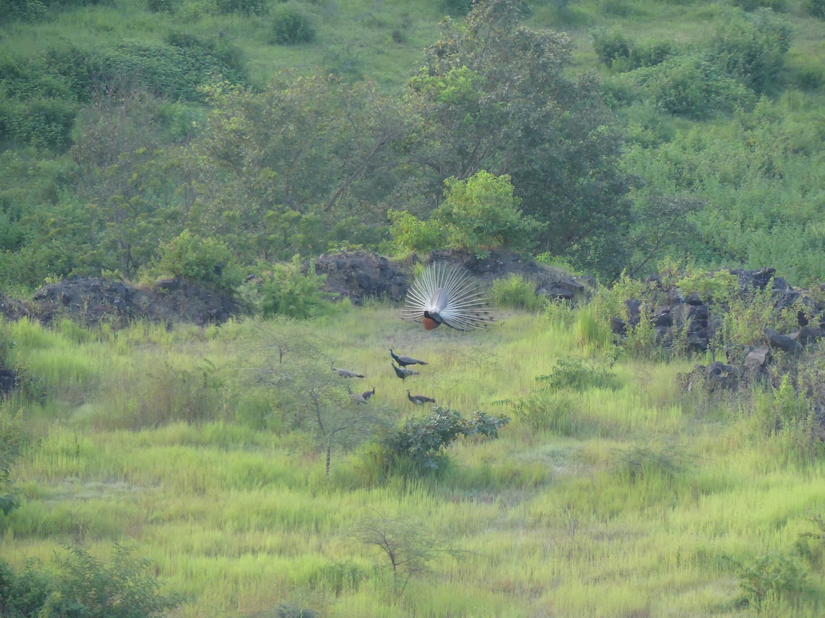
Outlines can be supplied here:
<path id="1" fill-rule="evenodd" d="M 161 246 L 160 257 L 149 274 L 166 274 L 231 290 L 243 279 L 243 272 L 226 243 L 201 238 L 188 230 Z"/>

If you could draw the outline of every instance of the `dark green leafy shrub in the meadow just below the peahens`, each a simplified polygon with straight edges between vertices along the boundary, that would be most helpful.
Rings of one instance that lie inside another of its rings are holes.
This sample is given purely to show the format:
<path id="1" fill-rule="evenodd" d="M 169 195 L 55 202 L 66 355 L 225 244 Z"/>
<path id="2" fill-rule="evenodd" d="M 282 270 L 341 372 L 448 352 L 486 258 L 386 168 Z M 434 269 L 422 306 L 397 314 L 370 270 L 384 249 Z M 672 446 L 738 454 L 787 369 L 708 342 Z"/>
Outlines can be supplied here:
<path id="1" fill-rule="evenodd" d="M 408 470 L 422 473 L 444 466 L 444 451 L 460 436 L 475 434 L 497 438 L 498 430 L 510 419 L 476 411 L 465 419 L 456 410 L 435 405 L 427 416 L 408 419 L 401 428 L 380 440 L 380 458 L 387 471 Z"/>

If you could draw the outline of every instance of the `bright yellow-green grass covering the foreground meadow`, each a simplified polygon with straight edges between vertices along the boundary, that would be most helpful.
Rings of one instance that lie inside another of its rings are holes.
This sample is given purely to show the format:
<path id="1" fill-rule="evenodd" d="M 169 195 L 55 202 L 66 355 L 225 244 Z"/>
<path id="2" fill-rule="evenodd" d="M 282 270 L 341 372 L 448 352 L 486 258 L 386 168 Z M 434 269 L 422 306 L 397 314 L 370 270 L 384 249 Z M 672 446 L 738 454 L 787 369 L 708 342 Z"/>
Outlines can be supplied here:
<path id="1" fill-rule="evenodd" d="M 347 383 L 375 386 L 370 406 L 398 421 L 425 411 L 407 388 L 464 414 L 513 414 L 500 402 L 540 387 L 559 359 L 606 366 L 575 311 L 499 318 L 490 330 L 427 332 L 371 303 L 295 333 L 365 373 Z M 456 442 L 441 475 L 380 483 L 357 450 L 335 452 L 326 478 L 304 433 L 238 413 L 244 372 L 277 362 L 267 334 L 281 336 L 282 322 L 2 329 L 16 341 L 12 361 L 48 394 L 39 406 L 16 400 L 27 438 L 13 474 L 25 499 L 0 520 L 3 557 L 19 566 L 71 542 L 101 558 L 134 545 L 188 599 L 176 616 L 281 602 L 326 616 L 744 616 L 734 564 L 791 555 L 825 507 L 823 462 L 796 461 L 757 433 L 747 393 L 738 404 L 683 393 L 686 360 L 622 356 L 610 388 L 565 390 L 574 431 L 514 416 L 497 440 Z M 389 347 L 429 364 L 404 383 Z M 217 386 L 204 396 L 196 378 Z M 192 405 L 209 414 L 181 411 Z M 416 522 L 459 553 L 433 552 L 430 574 L 401 590 L 386 555 L 354 540 L 376 516 Z M 819 616 L 823 588 L 812 569 L 807 592 L 769 598 L 764 611 Z"/>

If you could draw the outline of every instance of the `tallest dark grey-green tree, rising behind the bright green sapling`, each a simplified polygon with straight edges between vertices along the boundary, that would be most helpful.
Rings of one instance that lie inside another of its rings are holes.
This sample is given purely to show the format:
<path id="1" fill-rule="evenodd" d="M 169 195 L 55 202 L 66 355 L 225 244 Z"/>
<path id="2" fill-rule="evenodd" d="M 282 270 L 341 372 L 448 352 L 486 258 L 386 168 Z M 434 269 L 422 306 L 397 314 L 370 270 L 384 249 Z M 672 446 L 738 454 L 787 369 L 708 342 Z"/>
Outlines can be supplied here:
<path id="1" fill-rule="evenodd" d="M 484 0 L 461 26 L 441 22 L 408 82 L 421 122 L 407 156 L 423 180 L 408 199 L 426 211 L 447 178 L 509 174 L 524 212 L 550 223 L 542 249 L 610 271 L 629 222 L 620 136 L 595 78 L 569 75 L 568 36 L 527 29 L 524 12 L 519 0 Z"/>

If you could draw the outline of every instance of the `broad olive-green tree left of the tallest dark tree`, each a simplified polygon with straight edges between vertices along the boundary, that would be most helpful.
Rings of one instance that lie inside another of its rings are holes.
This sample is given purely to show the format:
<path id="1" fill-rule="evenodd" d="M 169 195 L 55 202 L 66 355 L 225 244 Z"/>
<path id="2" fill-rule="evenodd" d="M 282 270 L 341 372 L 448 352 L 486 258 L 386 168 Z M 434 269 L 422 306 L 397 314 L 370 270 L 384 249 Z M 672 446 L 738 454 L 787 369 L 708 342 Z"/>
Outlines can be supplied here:
<path id="1" fill-rule="evenodd" d="M 215 87 L 211 102 L 196 218 L 238 255 L 317 254 L 348 239 L 337 222 L 383 219 L 403 122 L 375 84 L 281 73 L 261 93 Z"/>

